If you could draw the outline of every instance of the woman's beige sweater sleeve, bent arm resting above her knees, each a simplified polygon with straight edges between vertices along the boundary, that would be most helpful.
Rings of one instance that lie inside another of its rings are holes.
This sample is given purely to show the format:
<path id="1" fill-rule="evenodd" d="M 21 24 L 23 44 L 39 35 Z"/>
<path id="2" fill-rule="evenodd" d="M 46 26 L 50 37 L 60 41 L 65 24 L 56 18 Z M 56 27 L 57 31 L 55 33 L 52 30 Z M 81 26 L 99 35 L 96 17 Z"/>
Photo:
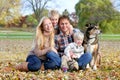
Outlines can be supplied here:
<path id="1" fill-rule="evenodd" d="M 32 51 L 38 57 L 45 55 L 49 51 L 49 48 L 45 48 L 43 50 L 40 50 L 39 47 L 38 47 L 37 41 L 35 41 L 34 45 L 35 46 L 34 46 Z"/>

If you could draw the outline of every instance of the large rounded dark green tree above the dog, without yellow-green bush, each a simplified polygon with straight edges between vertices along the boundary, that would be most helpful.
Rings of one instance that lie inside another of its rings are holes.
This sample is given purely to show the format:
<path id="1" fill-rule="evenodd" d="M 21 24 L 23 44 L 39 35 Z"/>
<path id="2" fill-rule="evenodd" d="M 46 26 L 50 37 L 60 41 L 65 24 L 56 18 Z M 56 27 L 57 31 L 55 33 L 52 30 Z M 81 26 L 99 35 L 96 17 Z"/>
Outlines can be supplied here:
<path id="1" fill-rule="evenodd" d="M 86 23 L 101 23 L 104 20 L 113 20 L 118 11 L 114 9 L 110 0 L 80 0 L 76 6 L 79 16 L 79 26 Z"/>

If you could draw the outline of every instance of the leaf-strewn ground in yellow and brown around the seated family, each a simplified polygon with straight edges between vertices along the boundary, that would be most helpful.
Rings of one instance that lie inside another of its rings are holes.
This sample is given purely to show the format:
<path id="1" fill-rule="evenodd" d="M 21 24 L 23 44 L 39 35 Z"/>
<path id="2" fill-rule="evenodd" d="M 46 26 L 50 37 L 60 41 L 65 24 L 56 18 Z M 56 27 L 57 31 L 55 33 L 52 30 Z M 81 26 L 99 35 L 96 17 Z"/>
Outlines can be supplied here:
<path id="1" fill-rule="evenodd" d="M 98 70 L 63 73 L 59 70 L 20 72 L 13 67 L 24 62 L 32 40 L 0 40 L 0 80 L 119 80 L 120 41 L 101 41 L 102 61 Z"/>

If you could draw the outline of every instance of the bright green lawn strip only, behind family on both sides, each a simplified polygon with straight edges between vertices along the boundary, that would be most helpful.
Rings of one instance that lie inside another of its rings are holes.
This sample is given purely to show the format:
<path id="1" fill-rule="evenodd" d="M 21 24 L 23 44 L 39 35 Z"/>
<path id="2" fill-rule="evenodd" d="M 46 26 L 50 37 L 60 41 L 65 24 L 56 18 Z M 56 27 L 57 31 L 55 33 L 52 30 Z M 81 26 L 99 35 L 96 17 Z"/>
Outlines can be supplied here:
<path id="1" fill-rule="evenodd" d="M 35 33 L 25 31 L 0 31 L 2 39 L 32 39 Z M 120 40 L 120 34 L 101 34 L 100 40 Z"/>

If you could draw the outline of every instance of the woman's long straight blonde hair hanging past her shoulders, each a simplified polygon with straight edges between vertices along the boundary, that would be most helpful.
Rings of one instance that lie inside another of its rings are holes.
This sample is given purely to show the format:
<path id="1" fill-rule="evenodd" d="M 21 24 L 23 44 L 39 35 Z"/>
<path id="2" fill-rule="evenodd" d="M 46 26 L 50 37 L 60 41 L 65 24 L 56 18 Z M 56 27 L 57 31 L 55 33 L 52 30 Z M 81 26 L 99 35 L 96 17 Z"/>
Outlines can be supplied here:
<path id="1" fill-rule="evenodd" d="M 43 35 L 43 21 L 45 19 L 49 19 L 48 17 L 43 17 L 40 20 L 40 23 L 38 24 L 36 28 L 36 44 L 38 45 L 39 49 L 44 48 L 44 44 L 46 42 L 45 36 Z M 54 28 L 53 31 L 50 33 L 50 47 L 54 47 Z"/>

